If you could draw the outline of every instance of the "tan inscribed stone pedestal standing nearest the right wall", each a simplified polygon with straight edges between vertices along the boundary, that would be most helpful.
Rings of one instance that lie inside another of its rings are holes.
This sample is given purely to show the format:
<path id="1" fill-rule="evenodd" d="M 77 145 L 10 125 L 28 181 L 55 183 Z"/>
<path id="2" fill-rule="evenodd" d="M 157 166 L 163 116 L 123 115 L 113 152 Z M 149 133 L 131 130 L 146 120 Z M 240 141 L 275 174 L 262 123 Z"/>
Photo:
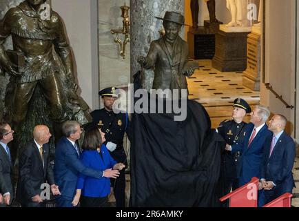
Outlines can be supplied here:
<path id="1" fill-rule="evenodd" d="M 247 69 L 243 72 L 243 85 L 260 90 L 260 30 L 253 29 L 247 38 Z"/>

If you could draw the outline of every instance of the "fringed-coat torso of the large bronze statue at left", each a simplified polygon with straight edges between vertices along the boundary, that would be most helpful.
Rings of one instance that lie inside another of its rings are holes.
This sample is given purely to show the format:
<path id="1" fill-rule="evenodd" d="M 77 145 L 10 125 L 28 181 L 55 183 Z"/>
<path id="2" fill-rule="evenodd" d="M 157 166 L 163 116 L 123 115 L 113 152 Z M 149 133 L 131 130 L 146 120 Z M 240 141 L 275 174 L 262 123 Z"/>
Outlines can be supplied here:
<path id="1" fill-rule="evenodd" d="M 25 72 L 17 78 L 17 82 L 36 81 L 59 71 L 52 54 L 53 43 L 59 43 L 61 30 L 56 12 L 51 12 L 49 21 L 43 21 L 24 1 L 8 11 L 3 25 L 6 34 L 12 35 L 14 50 L 22 52 L 25 59 Z"/>

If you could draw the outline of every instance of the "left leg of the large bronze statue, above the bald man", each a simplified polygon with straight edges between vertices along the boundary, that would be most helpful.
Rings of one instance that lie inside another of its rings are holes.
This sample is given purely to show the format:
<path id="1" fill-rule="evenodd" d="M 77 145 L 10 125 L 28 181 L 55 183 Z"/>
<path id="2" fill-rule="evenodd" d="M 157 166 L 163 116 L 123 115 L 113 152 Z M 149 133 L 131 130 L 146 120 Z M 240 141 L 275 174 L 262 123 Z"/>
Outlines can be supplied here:
<path id="1" fill-rule="evenodd" d="M 19 133 L 28 111 L 30 99 L 37 82 L 16 84 L 12 102 L 12 125 Z"/>

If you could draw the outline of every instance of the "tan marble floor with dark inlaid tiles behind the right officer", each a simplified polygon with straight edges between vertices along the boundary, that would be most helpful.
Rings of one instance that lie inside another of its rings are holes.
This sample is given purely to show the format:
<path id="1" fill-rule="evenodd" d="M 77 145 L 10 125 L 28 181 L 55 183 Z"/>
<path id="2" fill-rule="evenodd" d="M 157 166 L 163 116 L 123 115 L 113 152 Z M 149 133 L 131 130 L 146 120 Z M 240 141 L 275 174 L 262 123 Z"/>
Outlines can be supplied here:
<path id="1" fill-rule="evenodd" d="M 189 88 L 189 99 L 203 104 L 211 118 L 212 128 L 216 128 L 220 122 L 231 118 L 231 106 L 234 99 L 242 97 L 249 105 L 260 102 L 259 91 L 253 91 L 243 86 L 243 73 L 221 73 L 212 68 L 211 60 L 200 60 L 200 70 L 196 70 L 192 77 L 187 79 Z M 249 122 L 249 115 L 245 117 Z M 297 151 L 298 152 L 298 151 Z M 297 155 L 299 156 L 299 154 Z M 293 166 L 293 176 L 298 188 L 293 189 L 292 206 L 299 207 L 299 158 Z M 130 198 L 130 173 L 126 174 L 126 198 Z M 115 206 L 114 195 L 110 195 L 110 205 Z"/>

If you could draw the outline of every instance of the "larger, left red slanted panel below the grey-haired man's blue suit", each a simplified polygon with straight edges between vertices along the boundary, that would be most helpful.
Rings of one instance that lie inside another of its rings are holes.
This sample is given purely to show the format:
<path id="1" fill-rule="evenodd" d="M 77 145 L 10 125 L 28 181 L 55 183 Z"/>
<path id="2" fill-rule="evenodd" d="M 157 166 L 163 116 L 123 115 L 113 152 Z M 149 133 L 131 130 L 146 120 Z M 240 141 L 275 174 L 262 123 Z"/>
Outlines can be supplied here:
<path id="1" fill-rule="evenodd" d="M 229 207 L 258 207 L 258 182 L 258 178 L 253 177 L 249 183 L 220 198 L 220 201 L 229 199 Z"/>

